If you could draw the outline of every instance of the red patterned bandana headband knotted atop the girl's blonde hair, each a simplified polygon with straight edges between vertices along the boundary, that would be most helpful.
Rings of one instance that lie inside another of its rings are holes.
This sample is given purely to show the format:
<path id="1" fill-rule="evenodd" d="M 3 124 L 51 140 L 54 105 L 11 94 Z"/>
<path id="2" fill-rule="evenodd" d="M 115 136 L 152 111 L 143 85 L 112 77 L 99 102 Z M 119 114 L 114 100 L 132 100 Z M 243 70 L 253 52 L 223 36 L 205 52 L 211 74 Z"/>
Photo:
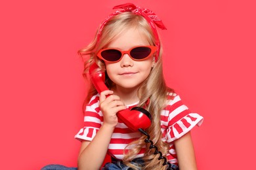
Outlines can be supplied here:
<path id="1" fill-rule="evenodd" d="M 116 12 L 110 14 L 100 25 L 100 28 L 98 29 L 98 35 L 97 35 L 97 42 L 100 41 L 100 36 L 102 33 L 103 27 L 106 25 L 108 20 L 112 18 L 113 16 L 116 16 L 117 14 L 120 14 L 122 12 L 133 12 L 134 14 L 143 16 L 148 24 L 150 24 L 150 27 L 154 33 L 154 36 L 156 38 L 156 46 L 157 46 L 157 52 L 156 52 L 156 61 L 158 61 L 158 56 L 160 52 L 160 40 L 158 37 L 158 31 L 156 31 L 156 25 L 160 27 L 161 29 L 166 29 L 165 25 L 163 25 L 163 22 L 161 22 L 160 18 L 152 11 L 144 8 L 140 8 L 138 6 L 133 5 L 132 3 L 125 3 L 123 5 L 117 5 L 113 9 L 120 9 L 117 10 Z"/>

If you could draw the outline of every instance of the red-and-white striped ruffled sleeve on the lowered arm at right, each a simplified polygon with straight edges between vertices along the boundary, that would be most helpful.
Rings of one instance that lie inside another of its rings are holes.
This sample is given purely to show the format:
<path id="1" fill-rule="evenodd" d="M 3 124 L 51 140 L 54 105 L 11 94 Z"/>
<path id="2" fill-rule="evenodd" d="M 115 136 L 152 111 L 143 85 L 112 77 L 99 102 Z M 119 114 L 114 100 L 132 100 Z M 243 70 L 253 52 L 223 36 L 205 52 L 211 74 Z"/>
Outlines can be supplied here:
<path id="1" fill-rule="evenodd" d="M 193 127 L 200 126 L 202 122 L 203 117 L 190 112 L 179 95 L 175 95 L 161 113 L 163 138 L 167 143 L 171 143 L 188 133 Z"/>

